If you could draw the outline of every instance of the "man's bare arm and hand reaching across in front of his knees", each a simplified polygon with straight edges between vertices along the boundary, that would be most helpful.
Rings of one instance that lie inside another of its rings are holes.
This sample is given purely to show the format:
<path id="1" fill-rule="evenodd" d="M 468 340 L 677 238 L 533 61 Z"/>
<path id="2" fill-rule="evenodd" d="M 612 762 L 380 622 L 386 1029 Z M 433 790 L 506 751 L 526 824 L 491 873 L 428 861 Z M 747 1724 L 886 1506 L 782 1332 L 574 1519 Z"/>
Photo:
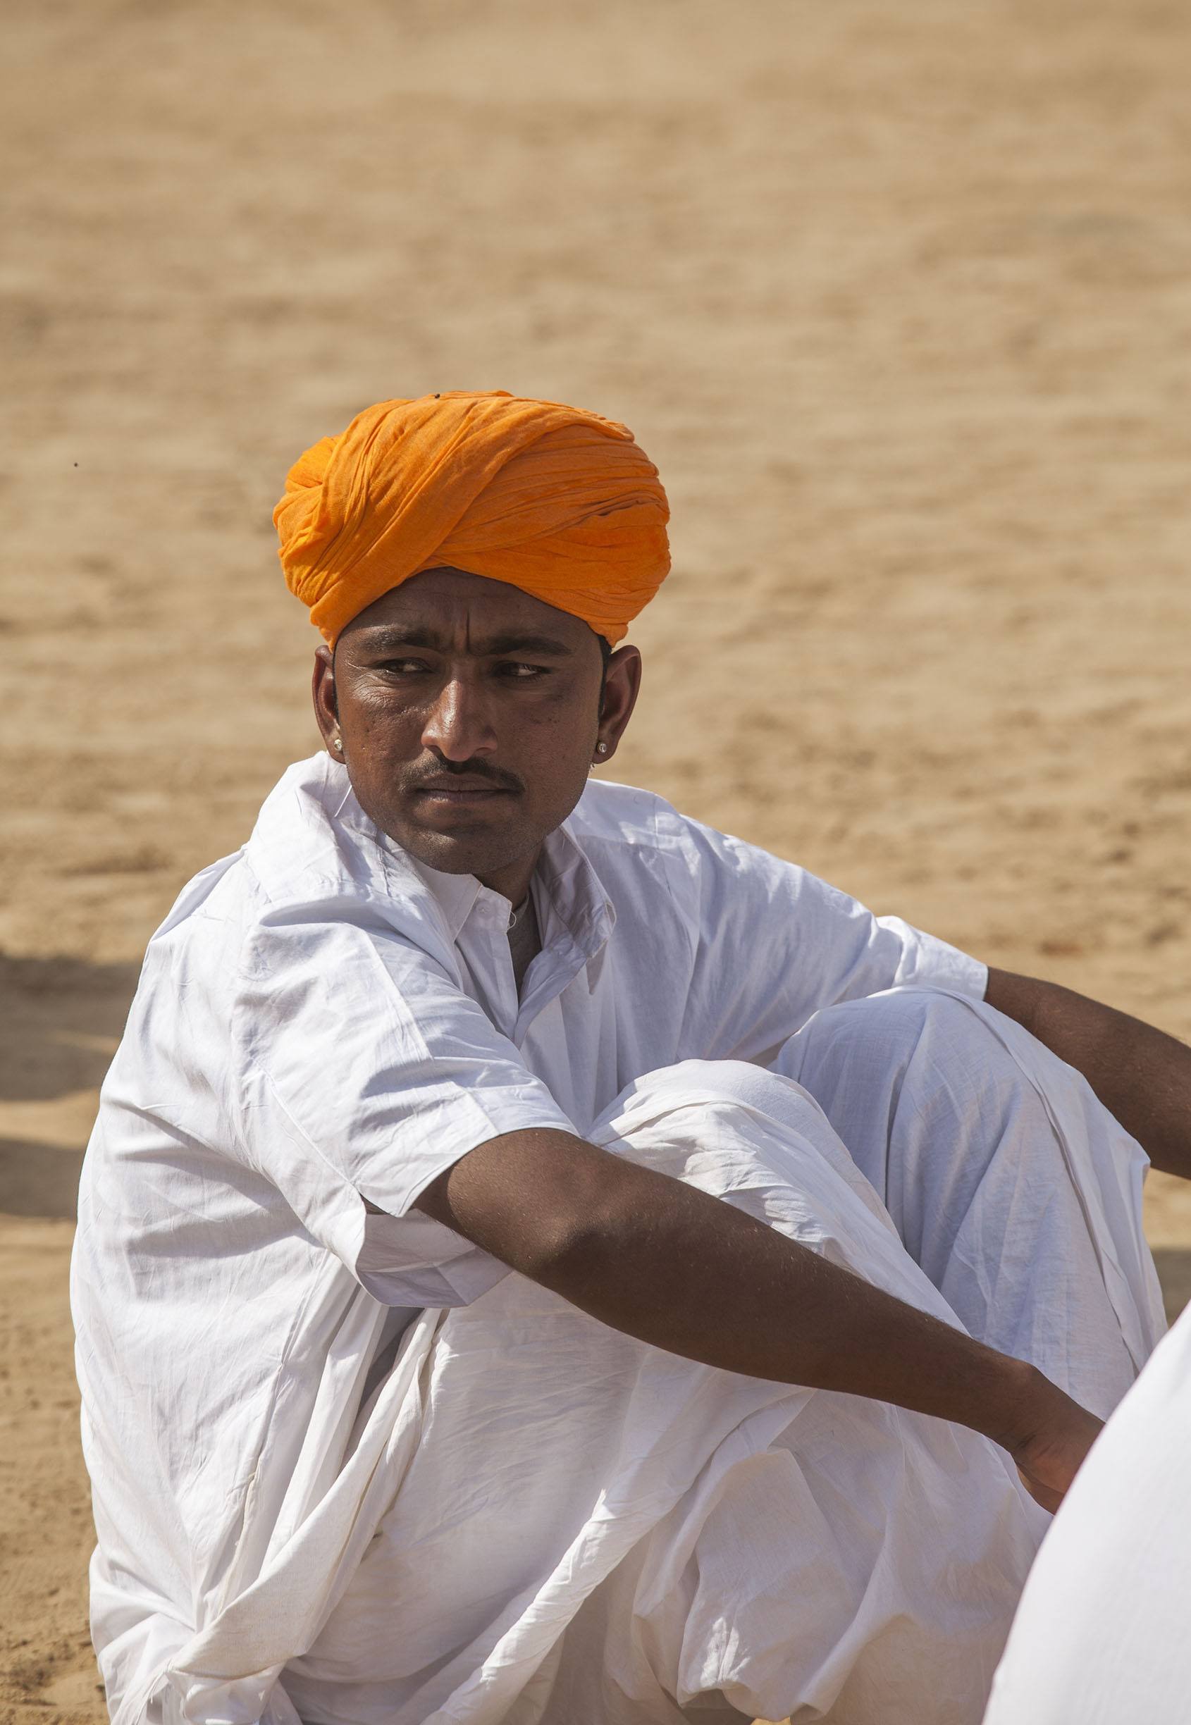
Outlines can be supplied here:
<path id="1" fill-rule="evenodd" d="M 614 1330 L 727 1371 L 972 1427 L 1055 1508 L 1100 1421 L 1018 1359 L 753 1216 L 564 1132 L 482 1144 L 419 1208 Z"/>

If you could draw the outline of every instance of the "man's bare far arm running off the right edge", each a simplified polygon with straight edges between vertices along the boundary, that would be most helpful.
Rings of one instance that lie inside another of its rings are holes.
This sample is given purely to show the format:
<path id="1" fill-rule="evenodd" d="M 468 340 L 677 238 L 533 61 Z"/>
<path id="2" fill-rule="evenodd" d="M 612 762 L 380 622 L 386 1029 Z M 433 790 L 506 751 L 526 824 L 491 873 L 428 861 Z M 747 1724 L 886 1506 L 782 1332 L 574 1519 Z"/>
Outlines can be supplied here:
<path id="1" fill-rule="evenodd" d="M 1084 1075 L 1155 1168 L 1191 1180 L 1191 1049 L 1072 988 L 989 969 L 986 1000 Z"/>

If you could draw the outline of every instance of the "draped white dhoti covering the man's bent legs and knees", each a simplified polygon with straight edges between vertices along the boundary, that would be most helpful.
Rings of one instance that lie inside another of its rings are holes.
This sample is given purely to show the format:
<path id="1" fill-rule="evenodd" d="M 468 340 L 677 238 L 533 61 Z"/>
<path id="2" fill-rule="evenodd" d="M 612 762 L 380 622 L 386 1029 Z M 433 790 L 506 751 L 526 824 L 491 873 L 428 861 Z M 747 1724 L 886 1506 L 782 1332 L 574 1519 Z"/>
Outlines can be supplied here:
<path id="1" fill-rule="evenodd" d="M 1144 1157 L 1082 1080 L 925 990 L 818 1014 L 778 1066 L 649 1075 L 590 1137 L 1108 1411 L 1162 1313 Z M 166 1718 L 980 1718 L 1048 1525 L 986 1439 L 678 1359 L 516 1275 L 425 1313 L 361 1408 L 383 1323 L 357 1290 Z"/>

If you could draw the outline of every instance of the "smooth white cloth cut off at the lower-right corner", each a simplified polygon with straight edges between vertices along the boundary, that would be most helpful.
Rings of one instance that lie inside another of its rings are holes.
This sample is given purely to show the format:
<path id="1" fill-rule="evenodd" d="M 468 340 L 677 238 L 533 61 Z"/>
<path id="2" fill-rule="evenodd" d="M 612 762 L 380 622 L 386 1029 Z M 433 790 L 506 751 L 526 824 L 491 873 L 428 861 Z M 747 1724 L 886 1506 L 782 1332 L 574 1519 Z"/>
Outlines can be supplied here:
<path id="1" fill-rule="evenodd" d="M 1191 1308 L 1079 1470 L 1022 1596 L 986 1725 L 1191 1718 Z"/>

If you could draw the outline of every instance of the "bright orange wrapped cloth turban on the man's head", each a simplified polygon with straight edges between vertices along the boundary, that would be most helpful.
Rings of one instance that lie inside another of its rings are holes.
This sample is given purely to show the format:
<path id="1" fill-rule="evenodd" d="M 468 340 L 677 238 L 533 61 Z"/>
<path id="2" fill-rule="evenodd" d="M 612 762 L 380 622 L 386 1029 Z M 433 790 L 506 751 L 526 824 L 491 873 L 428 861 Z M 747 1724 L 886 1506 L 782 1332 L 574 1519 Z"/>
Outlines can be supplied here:
<path id="1" fill-rule="evenodd" d="M 632 431 L 504 390 L 364 409 L 290 467 L 273 511 L 290 592 L 331 643 L 381 593 L 449 566 L 616 645 L 670 569 L 668 519 Z"/>

